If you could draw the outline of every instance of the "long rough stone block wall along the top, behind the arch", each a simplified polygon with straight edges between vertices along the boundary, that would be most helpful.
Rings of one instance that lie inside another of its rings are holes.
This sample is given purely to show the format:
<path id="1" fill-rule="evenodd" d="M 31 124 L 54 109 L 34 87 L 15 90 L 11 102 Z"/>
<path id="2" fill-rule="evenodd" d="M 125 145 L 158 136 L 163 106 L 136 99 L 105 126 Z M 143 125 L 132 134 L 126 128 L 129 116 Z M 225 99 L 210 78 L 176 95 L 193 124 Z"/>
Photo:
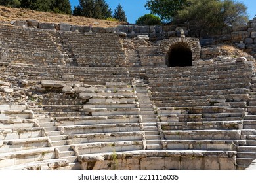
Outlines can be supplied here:
<path id="1" fill-rule="evenodd" d="M 256 58 L 256 18 L 250 20 L 247 25 L 238 25 L 222 29 L 215 35 L 209 35 L 205 30 L 193 29 L 188 24 L 173 26 L 138 26 L 138 25 L 118 25 L 117 27 L 101 28 L 89 26 L 77 26 L 65 23 L 41 23 L 37 20 L 13 21 L 12 25 L 19 27 L 33 27 L 38 29 L 50 29 L 57 31 L 79 31 L 87 33 L 121 33 L 125 37 L 136 37 L 137 35 L 148 35 L 151 41 L 168 39 L 169 37 L 180 37 L 181 29 L 186 37 L 200 38 L 202 46 L 211 45 L 218 42 L 234 43 L 238 48 L 245 50 Z"/>

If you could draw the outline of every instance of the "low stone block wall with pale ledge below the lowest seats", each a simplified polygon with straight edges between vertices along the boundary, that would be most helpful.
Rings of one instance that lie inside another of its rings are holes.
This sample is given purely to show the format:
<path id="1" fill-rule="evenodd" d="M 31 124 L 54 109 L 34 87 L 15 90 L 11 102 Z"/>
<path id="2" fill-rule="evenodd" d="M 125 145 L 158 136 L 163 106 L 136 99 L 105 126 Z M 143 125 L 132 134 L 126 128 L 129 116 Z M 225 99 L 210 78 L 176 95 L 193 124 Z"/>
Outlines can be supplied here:
<path id="1" fill-rule="evenodd" d="M 235 170 L 236 152 L 144 151 L 79 156 L 83 170 Z"/>

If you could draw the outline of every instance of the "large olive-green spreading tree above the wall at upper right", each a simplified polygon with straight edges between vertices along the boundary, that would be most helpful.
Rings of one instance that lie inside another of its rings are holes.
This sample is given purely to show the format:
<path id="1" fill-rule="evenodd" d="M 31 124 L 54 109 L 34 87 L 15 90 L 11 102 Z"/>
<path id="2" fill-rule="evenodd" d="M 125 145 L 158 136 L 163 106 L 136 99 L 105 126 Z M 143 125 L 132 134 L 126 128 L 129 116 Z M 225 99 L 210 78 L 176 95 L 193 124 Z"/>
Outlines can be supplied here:
<path id="1" fill-rule="evenodd" d="M 246 24 L 247 7 L 232 0 L 187 0 L 187 5 L 175 17 L 198 29 L 221 29 L 230 25 Z"/>

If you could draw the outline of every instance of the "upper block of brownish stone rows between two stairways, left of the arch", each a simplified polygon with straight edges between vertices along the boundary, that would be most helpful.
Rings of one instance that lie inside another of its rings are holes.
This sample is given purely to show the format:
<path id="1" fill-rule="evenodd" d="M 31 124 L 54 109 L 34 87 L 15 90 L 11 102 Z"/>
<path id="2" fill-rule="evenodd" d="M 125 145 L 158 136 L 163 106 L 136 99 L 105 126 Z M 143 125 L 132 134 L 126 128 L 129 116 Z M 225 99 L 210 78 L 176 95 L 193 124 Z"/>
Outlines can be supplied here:
<path id="1" fill-rule="evenodd" d="M 62 33 L 62 39 L 70 45 L 78 66 L 120 67 L 125 66 L 125 52 L 119 35 L 108 33 Z"/>

